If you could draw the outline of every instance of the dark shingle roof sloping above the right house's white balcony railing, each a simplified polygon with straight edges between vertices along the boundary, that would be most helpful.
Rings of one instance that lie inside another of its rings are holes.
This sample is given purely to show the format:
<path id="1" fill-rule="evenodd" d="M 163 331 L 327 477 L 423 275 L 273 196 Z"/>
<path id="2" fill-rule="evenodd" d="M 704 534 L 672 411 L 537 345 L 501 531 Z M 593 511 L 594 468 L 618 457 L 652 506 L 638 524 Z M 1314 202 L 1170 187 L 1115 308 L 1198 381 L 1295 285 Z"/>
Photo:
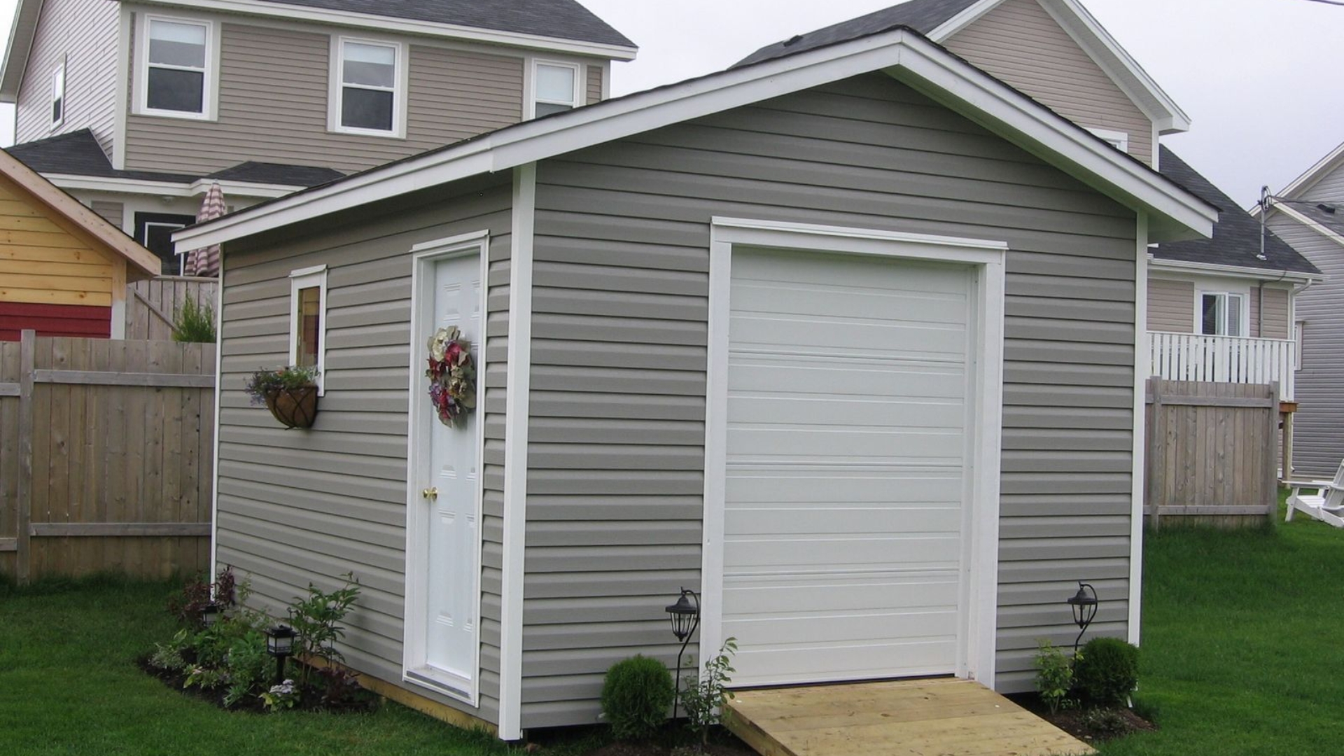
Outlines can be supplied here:
<path id="1" fill-rule="evenodd" d="M 1267 260 L 1257 258 L 1255 256 L 1261 253 L 1261 223 L 1258 219 L 1242 210 L 1232 202 L 1232 198 L 1210 183 L 1165 145 L 1160 148 L 1159 165 L 1164 176 L 1218 207 L 1219 213 L 1218 223 L 1214 225 L 1214 238 L 1164 242 L 1153 250 L 1153 257 L 1263 270 L 1320 273 L 1310 261 L 1288 246 L 1273 231 L 1266 231 L 1265 237 L 1265 257 Z"/>

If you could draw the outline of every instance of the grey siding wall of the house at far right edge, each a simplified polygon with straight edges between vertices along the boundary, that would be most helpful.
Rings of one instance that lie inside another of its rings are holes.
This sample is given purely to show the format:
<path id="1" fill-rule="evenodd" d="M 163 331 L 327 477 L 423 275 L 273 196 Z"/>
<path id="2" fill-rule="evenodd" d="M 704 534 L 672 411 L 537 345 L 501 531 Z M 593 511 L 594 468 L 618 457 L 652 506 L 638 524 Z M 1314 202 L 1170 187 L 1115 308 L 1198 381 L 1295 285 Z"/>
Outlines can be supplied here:
<path id="1" fill-rule="evenodd" d="M 1341 196 L 1340 199 L 1344 199 Z M 1298 410 L 1293 420 L 1293 472 L 1331 478 L 1344 460 L 1344 246 L 1282 214 L 1270 230 L 1310 260 L 1325 281 L 1297 295 L 1304 322 L 1302 369 L 1297 371 Z"/>

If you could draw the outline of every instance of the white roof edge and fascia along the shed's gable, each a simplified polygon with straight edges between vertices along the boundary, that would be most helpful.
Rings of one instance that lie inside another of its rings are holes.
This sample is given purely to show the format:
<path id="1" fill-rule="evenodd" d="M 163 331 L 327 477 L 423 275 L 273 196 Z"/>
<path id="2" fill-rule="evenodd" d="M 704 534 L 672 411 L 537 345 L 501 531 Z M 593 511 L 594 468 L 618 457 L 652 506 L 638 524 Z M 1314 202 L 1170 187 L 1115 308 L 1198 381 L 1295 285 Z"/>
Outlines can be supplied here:
<path id="1" fill-rule="evenodd" d="M 886 71 L 1149 215 L 1153 241 L 1212 235 L 1214 206 L 922 35 L 898 28 L 505 126 L 183 229 L 173 239 L 179 249 L 223 243 L 872 71 Z"/>

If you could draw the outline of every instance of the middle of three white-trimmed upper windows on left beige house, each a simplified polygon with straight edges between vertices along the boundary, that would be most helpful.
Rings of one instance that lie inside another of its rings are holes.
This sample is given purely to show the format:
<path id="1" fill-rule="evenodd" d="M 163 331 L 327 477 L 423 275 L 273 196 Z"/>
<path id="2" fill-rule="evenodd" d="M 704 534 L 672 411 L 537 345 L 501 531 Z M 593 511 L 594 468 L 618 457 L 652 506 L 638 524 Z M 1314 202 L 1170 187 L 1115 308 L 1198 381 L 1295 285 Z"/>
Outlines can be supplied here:
<path id="1" fill-rule="evenodd" d="M 402 136 L 405 48 L 395 42 L 336 38 L 331 126 L 335 132 Z"/>

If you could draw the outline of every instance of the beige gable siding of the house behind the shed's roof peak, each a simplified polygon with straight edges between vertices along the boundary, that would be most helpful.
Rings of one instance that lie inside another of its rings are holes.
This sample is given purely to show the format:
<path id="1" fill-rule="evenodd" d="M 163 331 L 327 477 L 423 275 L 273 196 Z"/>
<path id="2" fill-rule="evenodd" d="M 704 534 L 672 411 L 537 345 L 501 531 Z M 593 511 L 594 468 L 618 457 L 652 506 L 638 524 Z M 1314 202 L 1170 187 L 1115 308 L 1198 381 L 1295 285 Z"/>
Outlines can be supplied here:
<path id="1" fill-rule="evenodd" d="M 1008 0 L 945 47 L 1078 125 L 1128 133 L 1152 164 L 1152 121 L 1036 0 Z"/>

